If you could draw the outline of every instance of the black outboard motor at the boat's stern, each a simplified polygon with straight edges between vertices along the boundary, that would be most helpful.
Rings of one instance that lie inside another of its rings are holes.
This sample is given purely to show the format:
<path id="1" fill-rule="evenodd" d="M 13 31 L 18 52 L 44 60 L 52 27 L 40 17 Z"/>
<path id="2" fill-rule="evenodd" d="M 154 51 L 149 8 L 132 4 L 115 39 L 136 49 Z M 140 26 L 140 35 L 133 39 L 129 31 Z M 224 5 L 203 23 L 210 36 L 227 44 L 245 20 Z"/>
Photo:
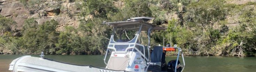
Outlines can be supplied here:
<path id="1" fill-rule="evenodd" d="M 178 65 L 180 64 L 180 61 L 178 60 Z M 171 60 L 167 64 L 167 71 L 168 72 L 175 72 L 175 65 L 176 65 L 176 60 Z M 176 72 L 181 72 L 182 68 L 180 66 L 177 66 L 177 71 Z"/>

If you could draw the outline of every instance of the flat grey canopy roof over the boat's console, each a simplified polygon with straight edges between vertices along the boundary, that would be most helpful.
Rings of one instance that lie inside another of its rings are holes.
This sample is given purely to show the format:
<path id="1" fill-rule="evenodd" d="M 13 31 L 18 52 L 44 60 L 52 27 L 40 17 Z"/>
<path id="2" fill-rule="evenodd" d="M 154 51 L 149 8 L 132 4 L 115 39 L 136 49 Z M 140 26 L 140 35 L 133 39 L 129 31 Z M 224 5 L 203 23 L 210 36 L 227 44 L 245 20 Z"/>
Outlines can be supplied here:
<path id="1" fill-rule="evenodd" d="M 141 31 L 147 31 L 151 26 L 153 27 L 152 30 L 165 30 L 163 27 L 159 27 L 156 25 L 153 25 L 152 23 L 149 23 L 149 21 L 153 20 L 154 18 L 150 17 L 135 17 L 128 19 L 127 21 L 119 21 L 119 22 L 112 22 L 112 23 L 103 23 L 103 24 L 109 24 L 114 27 L 119 27 L 122 29 L 131 29 L 131 30 L 138 30 L 139 25 L 142 25 Z"/>

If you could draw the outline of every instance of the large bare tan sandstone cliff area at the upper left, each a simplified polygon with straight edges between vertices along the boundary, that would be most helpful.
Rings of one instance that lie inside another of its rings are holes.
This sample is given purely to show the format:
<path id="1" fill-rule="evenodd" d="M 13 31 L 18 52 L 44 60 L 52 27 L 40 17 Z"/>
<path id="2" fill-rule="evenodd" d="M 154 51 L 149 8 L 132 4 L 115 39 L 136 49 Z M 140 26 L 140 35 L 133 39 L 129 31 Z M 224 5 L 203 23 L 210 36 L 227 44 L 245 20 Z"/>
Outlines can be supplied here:
<path id="1" fill-rule="evenodd" d="M 63 9 L 59 9 L 59 15 L 55 14 L 54 8 L 48 6 L 48 8 L 40 10 L 40 15 L 42 15 L 42 18 L 39 18 L 37 13 L 30 15 L 29 10 L 26 9 L 19 0 L 0 0 L 0 15 L 16 21 L 17 29 L 22 28 L 25 19 L 32 17 L 36 18 L 38 24 L 42 24 L 47 20 L 54 19 L 59 22 L 57 30 L 60 31 L 64 30 L 64 26 L 73 26 L 77 28 L 78 18 L 76 14 L 78 14 L 79 11 L 76 10 L 75 3 L 65 0 L 61 6 Z"/>

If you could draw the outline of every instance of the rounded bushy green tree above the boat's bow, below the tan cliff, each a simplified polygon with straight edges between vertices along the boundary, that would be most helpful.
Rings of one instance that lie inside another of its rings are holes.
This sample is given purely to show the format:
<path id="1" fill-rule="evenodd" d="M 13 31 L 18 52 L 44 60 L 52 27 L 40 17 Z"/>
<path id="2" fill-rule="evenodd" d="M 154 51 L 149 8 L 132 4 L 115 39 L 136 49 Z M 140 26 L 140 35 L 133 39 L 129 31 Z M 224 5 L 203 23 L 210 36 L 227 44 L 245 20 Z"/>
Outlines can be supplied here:
<path id="1" fill-rule="evenodd" d="M 25 50 L 31 53 L 40 53 L 41 51 L 47 53 L 51 48 L 55 48 L 59 36 L 55 30 L 58 24 L 57 21 L 51 20 L 36 27 L 28 27 L 22 36 Z"/>

